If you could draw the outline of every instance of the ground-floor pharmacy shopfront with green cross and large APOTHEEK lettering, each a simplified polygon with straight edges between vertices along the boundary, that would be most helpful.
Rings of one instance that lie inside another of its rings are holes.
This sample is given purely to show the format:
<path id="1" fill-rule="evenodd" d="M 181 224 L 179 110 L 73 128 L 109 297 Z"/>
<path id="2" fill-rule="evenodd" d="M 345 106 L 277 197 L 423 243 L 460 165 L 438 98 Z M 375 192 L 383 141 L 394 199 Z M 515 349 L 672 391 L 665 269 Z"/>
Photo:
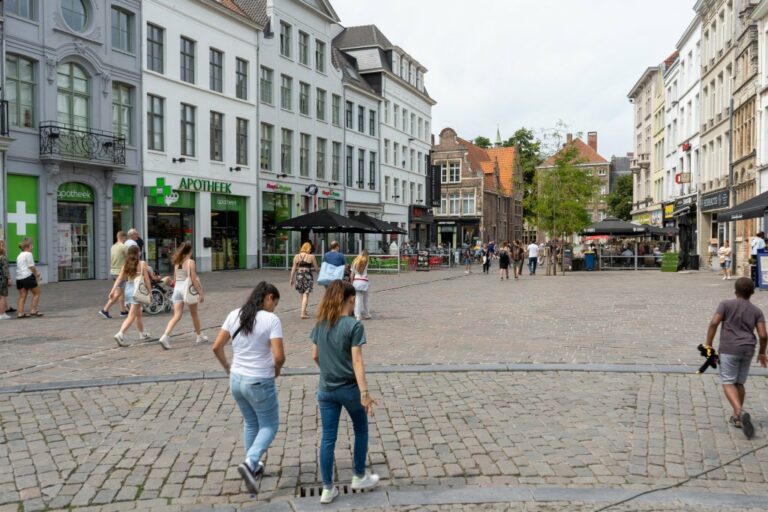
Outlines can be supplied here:
<path id="1" fill-rule="evenodd" d="M 147 261 L 161 275 L 173 272 L 171 257 L 192 244 L 201 272 L 256 266 L 248 219 L 255 219 L 255 187 L 192 177 L 154 177 L 145 187 Z M 254 211 L 249 211 L 254 209 Z M 253 223 L 255 224 L 255 223 Z"/>

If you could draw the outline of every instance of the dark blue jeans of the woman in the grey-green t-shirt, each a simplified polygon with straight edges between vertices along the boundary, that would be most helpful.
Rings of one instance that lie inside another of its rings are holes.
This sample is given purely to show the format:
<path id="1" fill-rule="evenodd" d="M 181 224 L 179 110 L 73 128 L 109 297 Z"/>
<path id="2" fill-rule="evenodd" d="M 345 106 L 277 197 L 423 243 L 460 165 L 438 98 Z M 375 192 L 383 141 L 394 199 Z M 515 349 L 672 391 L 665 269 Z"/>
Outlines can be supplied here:
<path id="1" fill-rule="evenodd" d="M 333 452 L 336 449 L 336 435 L 339 431 L 339 417 L 342 406 L 352 418 L 355 431 L 355 475 L 365 475 L 365 459 L 368 456 L 368 415 L 360 403 L 360 388 L 351 384 L 333 391 L 317 391 L 317 404 L 323 422 L 323 437 L 320 441 L 320 474 L 323 486 L 333 485 Z"/>

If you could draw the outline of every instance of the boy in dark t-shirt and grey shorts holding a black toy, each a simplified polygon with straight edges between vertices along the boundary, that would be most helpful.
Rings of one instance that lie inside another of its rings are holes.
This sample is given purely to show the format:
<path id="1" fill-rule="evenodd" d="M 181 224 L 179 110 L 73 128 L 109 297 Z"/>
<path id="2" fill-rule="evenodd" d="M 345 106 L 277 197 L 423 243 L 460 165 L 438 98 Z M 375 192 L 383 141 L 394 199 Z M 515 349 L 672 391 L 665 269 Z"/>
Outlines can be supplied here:
<path id="1" fill-rule="evenodd" d="M 748 277 L 739 278 L 734 288 L 736 298 L 722 301 L 709 322 L 706 345 L 712 346 L 720 326 L 720 381 L 725 398 L 733 408 L 729 423 L 741 428 L 747 439 L 751 439 L 755 434 L 755 427 L 749 413 L 744 411 L 744 399 L 747 395 L 744 384 L 755 356 L 755 330 L 760 338 L 757 362 L 763 368 L 768 366 L 768 332 L 765 329 L 763 312 L 749 301 L 755 293 L 752 280 Z"/>

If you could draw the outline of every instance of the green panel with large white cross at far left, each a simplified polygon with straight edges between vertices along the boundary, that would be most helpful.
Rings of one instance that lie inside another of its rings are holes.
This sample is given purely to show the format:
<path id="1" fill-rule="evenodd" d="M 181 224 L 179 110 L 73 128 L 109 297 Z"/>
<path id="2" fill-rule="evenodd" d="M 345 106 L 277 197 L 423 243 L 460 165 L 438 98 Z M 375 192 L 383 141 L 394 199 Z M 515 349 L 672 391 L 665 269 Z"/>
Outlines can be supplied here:
<path id="1" fill-rule="evenodd" d="M 19 242 L 31 238 L 35 245 L 33 256 L 38 258 L 38 201 L 36 176 L 20 176 L 9 174 L 6 181 L 8 190 L 5 192 L 8 230 L 8 260 L 15 261 L 19 255 Z"/>

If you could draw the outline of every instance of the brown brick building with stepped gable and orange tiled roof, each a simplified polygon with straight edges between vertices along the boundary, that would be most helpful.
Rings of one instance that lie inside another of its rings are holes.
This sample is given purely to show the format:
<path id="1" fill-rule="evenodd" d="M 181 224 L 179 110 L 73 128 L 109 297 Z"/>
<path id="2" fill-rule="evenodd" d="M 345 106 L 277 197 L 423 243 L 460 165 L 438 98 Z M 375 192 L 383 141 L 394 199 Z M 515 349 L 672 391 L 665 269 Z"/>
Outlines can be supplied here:
<path id="1" fill-rule="evenodd" d="M 440 132 L 432 163 L 440 167 L 441 201 L 435 211 L 438 243 L 456 247 L 522 238 L 522 169 L 514 147 L 481 148 Z"/>

